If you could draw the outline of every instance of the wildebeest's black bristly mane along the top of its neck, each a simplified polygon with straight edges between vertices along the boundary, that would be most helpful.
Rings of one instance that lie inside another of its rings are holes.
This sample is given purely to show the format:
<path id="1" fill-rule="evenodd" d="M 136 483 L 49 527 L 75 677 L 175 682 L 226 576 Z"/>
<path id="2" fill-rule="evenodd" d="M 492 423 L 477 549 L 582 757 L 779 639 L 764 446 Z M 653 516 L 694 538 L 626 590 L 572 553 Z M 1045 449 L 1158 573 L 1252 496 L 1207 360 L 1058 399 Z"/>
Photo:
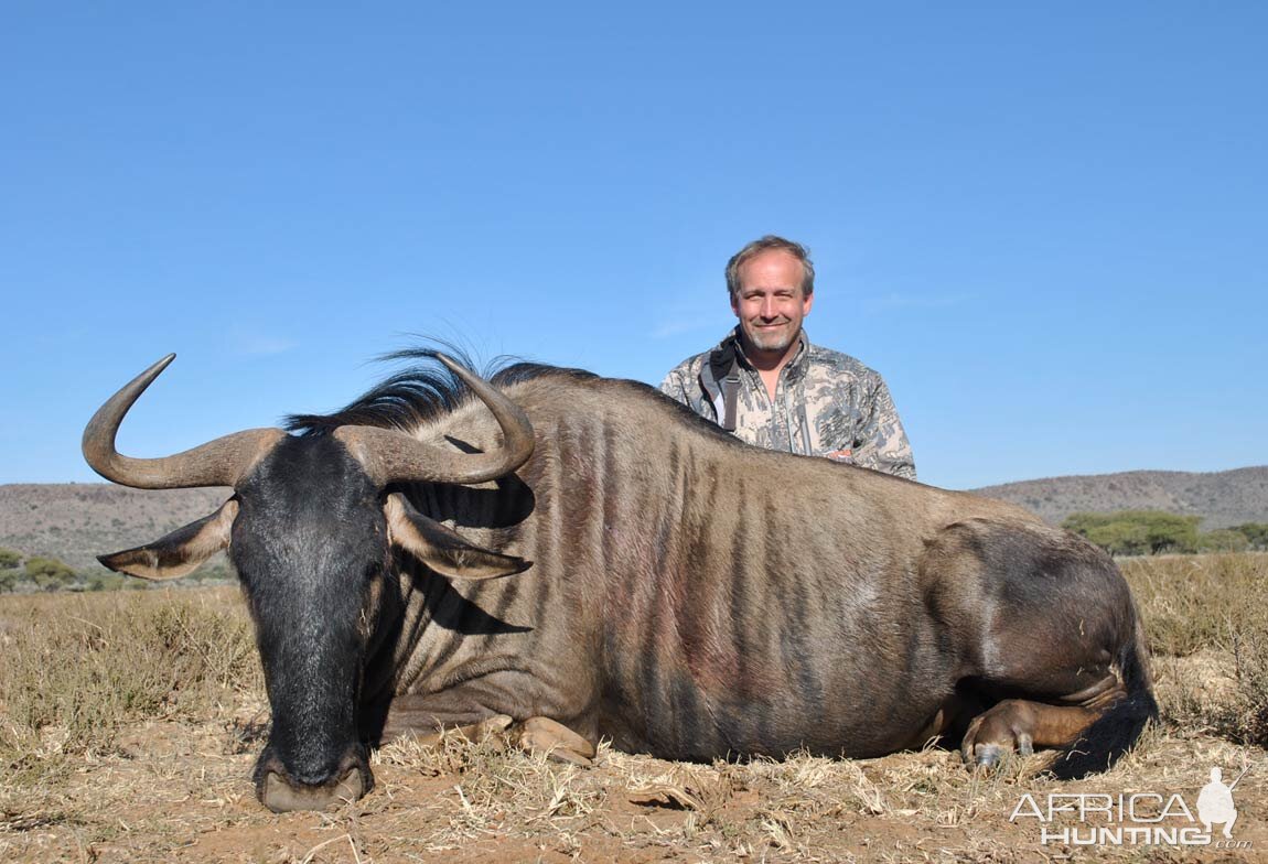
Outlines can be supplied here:
<path id="1" fill-rule="evenodd" d="M 375 384 L 355 402 L 331 414 L 289 414 L 283 422 L 284 428 L 304 436 L 328 435 L 340 426 L 413 431 L 470 398 L 470 389 L 436 360 L 436 353 L 435 348 L 407 348 L 383 355 L 380 361 L 408 360 L 415 364 Z M 476 364 L 463 350 L 445 345 L 444 353 L 462 366 L 476 370 Z M 581 369 L 563 369 L 507 356 L 495 357 L 479 375 L 496 386 L 510 386 L 539 378 L 564 378 L 573 381 L 597 378 Z"/>

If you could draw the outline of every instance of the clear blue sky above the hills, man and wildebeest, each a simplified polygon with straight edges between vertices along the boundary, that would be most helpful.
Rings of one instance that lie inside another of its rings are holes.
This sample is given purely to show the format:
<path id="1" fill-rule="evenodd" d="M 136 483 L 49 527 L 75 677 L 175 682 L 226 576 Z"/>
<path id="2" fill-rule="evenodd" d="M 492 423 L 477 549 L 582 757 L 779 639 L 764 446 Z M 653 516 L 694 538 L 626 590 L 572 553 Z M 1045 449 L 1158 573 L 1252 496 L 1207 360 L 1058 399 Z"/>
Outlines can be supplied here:
<path id="1" fill-rule="evenodd" d="M 950 488 L 1268 462 L 1268 6 L 13 4 L 0 483 L 337 408 L 408 333 L 657 383 L 723 266 Z"/>

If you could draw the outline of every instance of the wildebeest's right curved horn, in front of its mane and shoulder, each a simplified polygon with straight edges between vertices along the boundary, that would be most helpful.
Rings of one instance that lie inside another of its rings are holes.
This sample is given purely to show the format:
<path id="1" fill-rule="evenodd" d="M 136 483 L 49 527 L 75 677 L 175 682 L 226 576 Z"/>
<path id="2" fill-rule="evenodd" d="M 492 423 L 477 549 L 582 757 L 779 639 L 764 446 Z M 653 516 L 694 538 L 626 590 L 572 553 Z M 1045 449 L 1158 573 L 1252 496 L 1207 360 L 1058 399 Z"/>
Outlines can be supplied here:
<path id="1" fill-rule="evenodd" d="M 502 448 L 487 454 L 455 454 L 420 442 L 397 429 L 374 426 L 341 426 L 335 437 L 365 467 L 380 486 L 389 483 L 484 483 L 503 478 L 529 461 L 533 455 L 533 424 L 524 410 L 492 384 L 467 371 L 443 353 L 445 364 L 481 398 L 502 428 Z"/>

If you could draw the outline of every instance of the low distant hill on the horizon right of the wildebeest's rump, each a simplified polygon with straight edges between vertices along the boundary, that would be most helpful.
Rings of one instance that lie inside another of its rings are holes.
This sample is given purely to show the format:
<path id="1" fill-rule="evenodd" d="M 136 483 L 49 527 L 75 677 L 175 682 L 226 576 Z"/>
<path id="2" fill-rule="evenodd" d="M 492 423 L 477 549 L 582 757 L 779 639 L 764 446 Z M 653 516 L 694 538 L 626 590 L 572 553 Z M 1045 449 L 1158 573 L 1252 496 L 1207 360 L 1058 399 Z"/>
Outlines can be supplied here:
<path id="1" fill-rule="evenodd" d="M 1021 504 L 1054 524 L 1080 511 L 1167 511 L 1201 516 L 1203 531 L 1268 522 L 1268 465 L 1210 474 L 1123 471 L 1047 478 L 973 492 Z"/>

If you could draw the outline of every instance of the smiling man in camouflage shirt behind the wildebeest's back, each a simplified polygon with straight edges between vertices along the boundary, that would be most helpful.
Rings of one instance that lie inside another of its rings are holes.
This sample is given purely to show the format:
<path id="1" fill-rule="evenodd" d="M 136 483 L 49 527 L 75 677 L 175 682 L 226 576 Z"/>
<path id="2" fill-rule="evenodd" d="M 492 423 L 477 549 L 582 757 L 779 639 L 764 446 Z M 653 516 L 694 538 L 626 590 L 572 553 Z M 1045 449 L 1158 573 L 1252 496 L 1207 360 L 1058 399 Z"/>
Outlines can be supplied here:
<path id="1" fill-rule="evenodd" d="M 914 480 L 885 381 L 812 345 L 801 328 L 814 303 L 806 248 L 775 236 L 753 241 L 727 262 L 727 289 L 739 324 L 718 347 L 682 361 L 661 390 L 748 443 Z"/>

